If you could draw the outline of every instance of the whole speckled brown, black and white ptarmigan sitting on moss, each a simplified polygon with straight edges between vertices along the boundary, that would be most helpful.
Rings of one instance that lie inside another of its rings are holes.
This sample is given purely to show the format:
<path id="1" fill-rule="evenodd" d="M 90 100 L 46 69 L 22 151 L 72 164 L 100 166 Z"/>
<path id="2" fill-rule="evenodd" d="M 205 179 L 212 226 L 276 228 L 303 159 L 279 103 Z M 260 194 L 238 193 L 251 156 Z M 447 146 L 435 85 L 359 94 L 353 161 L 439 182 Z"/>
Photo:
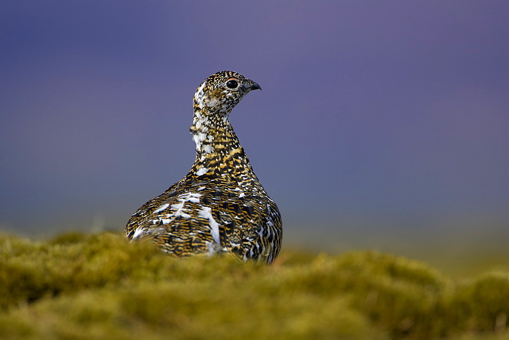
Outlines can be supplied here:
<path id="1" fill-rule="evenodd" d="M 150 239 L 177 256 L 232 252 L 244 261 L 274 261 L 281 247 L 281 215 L 229 120 L 234 106 L 257 89 L 256 82 L 232 71 L 201 83 L 190 128 L 196 160 L 183 179 L 131 216 L 128 239 Z"/>

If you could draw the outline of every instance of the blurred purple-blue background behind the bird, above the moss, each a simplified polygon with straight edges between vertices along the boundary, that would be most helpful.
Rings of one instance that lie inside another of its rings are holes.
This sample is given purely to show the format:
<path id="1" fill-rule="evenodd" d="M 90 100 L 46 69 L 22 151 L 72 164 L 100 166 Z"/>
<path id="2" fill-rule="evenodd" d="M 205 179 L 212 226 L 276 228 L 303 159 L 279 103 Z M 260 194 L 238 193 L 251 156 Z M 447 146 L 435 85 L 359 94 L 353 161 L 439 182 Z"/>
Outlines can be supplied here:
<path id="1" fill-rule="evenodd" d="M 505 1 L 3 1 L 0 231 L 122 231 L 188 172 L 194 91 L 233 70 L 263 88 L 231 122 L 285 247 L 507 263 L 508 22 Z"/>

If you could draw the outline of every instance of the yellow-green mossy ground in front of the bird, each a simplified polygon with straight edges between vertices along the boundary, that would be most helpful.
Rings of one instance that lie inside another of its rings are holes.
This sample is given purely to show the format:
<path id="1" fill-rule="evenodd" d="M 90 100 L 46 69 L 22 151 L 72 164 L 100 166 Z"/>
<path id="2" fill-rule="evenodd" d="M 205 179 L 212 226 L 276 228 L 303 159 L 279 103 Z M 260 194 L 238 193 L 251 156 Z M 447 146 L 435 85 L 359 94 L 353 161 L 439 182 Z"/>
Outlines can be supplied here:
<path id="1" fill-rule="evenodd" d="M 509 273 L 455 280 L 373 251 L 271 266 L 120 234 L 0 236 L 0 338 L 509 338 Z"/>

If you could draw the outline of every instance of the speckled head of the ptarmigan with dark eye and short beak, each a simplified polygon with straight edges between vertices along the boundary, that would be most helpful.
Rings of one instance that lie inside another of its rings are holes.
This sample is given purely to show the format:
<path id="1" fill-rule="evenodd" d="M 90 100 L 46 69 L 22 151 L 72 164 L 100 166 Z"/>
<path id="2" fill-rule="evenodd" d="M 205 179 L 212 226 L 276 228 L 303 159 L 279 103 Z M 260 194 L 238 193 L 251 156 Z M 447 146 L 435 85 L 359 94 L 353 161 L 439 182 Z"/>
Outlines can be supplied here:
<path id="1" fill-rule="evenodd" d="M 233 71 L 221 71 L 205 79 L 194 94 L 194 111 L 228 116 L 235 105 L 259 84 Z"/>

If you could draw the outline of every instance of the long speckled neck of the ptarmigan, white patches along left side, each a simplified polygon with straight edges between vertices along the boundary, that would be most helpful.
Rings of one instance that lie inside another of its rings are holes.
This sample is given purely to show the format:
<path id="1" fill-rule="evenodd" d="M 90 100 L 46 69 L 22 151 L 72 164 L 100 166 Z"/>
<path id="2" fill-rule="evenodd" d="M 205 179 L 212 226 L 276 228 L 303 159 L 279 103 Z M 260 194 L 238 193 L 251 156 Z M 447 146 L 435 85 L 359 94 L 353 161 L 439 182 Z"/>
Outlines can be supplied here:
<path id="1" fill-rule="evenodd" d="M 230 181 L 239 177 L 256 178 L 230 124 L 229 113 L 194 111 L 190 132 L 196 144 L 196 160 L 190 175 Z"/>

